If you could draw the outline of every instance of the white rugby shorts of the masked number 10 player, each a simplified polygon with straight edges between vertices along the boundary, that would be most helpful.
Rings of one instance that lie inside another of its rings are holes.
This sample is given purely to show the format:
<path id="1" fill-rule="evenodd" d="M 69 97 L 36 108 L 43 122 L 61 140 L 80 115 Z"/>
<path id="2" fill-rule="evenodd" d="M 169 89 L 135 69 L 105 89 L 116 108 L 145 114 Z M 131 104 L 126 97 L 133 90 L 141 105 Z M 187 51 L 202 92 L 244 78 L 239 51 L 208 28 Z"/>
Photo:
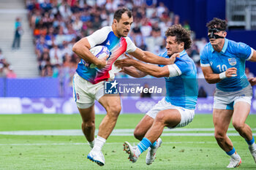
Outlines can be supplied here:
<path id="1" fill-rule="evenodd" d="M 251 105 L 252 102 L 252 86 L 248 85 L 242 90 L 235 92 L 225 92 L 216 89 L 214 93 L 214 109 L 234 109 L 234 105 L 238 101 L 243 101 Z"/>

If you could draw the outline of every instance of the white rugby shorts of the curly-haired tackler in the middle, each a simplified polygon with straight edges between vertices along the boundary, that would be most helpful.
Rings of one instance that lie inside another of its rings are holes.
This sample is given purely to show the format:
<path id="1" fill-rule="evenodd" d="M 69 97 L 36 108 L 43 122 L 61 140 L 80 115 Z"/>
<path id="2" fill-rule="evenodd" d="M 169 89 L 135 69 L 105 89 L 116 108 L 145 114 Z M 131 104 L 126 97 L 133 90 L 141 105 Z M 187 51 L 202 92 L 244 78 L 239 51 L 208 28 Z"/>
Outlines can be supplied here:
<path id="1" fill-rule="evenodd" d="M 169 102 L 165 101 L 165 98 L 162 98 L 161 101 L 158 101 L 158 103 L 152 109 L 150 109 L 146 115 L 155 119 L 157 117 L 157 113 L 165 109 L 177 109 L 181 114 L 181 122 L 178 123 L 175 128 L 181 128 L 188 125 L 195 117 L 195 109 L 185 109 L 183 107 L 173 106 Z"/>

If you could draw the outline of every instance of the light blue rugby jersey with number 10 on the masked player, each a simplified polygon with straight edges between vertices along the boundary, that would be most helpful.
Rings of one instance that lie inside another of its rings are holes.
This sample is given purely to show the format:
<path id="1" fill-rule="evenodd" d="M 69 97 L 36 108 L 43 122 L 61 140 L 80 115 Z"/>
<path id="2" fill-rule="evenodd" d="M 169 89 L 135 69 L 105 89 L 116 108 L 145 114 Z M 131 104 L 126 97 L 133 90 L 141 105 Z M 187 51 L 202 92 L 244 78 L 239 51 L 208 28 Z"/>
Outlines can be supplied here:
<path id="1" fill-rule="evenodd" d="M 222 91 L 238 91 L 246 88 L 249 82 L 244 73 L 245 61 L 252 57 L 253 50 L 242 42 L 233 42 L 225 39 L 222 51 L 218 53 L 208 44 L 200 51 L 201 66 L 211 66 L 214 73 L 225 72 L 231 67 L 236 67 L 237 76 L 229 77 L 217 82 L 217 88 Z"/>

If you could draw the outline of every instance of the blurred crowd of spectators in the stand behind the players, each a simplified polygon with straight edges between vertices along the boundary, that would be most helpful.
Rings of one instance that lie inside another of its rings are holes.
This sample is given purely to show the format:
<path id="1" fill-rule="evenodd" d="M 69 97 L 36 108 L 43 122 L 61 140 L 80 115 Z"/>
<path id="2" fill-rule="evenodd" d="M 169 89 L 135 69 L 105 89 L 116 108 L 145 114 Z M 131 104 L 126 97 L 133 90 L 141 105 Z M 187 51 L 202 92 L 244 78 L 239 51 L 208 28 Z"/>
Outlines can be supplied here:
<path id="1" fill-rule="evenodd" d="M 187 21 L 180 23 L 179 16 L 157 0 L 26 0 L 26 7 L 40 74 L 61 80 L 72 80 L 80 61 L 72 53 L 75 42 L 103 26 L 111 26 L 113 14 L 119 7 L 132 10 L 134 23 L 129 37 L 142 50 L 164 52 L 165 31 L 173 24 L 190 30 Z M 195 39 L 193 32 L 192 40 L 187 53 L 197 65 L 198 77 L 203 78 L 199 53 L 207 40 Z M 118 73 L 116 77 L 129 76 Z"/>

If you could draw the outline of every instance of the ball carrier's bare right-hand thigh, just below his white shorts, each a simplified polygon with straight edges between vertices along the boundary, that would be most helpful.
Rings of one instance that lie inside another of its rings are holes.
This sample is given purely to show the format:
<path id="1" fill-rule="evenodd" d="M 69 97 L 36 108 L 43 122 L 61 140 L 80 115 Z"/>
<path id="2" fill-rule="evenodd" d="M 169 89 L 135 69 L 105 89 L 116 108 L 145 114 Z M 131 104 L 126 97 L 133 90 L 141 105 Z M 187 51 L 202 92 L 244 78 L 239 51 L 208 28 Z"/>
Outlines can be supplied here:
<path id="1" fill-rule="evenodd" d="M 121 99 L 118 94 L 105 94 L 99 98 L 99 103 L 107 110 L 107 113 L 121 109 Z"/>

